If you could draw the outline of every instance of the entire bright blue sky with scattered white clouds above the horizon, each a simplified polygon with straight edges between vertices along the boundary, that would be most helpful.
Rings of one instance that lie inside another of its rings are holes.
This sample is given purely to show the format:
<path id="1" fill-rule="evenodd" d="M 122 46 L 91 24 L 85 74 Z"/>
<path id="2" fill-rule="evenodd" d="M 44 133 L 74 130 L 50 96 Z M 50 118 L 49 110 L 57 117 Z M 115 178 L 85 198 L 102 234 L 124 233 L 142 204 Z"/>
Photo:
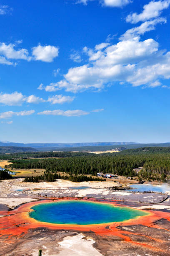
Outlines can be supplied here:
<path id="1" fill-rule="evenodd" d="M 170 141 L 170 0 L 1 1 L 0 140 Z"/>

